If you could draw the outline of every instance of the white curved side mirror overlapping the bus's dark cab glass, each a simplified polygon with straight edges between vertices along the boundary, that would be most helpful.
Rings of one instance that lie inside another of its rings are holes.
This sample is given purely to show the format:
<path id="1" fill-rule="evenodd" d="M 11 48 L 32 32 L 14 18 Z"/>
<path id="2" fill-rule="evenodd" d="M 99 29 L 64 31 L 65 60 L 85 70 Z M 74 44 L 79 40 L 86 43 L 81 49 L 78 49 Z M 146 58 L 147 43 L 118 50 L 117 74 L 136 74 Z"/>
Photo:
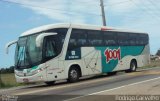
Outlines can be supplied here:
<path id="1" fill-rule="evenodd" d="M 42 33 L 36 38 L 36 46 L 41 47 L 43 40 L 46 36 L 57 35 L 57 33 Z"/>

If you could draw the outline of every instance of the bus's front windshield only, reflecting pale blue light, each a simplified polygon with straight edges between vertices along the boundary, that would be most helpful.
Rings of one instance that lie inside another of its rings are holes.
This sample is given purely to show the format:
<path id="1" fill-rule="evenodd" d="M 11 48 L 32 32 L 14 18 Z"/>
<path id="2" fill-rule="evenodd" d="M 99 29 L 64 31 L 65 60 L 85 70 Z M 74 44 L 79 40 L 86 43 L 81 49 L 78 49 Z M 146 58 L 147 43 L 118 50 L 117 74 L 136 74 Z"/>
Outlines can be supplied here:
<path id="1" fill-rule="evenodd" d="M 42 49 L 36 47 L 36 37 L 39 34 L 21 37 L 18 40 L 15 55 L 17 68 L 30 68 L 42 60 Z"/>

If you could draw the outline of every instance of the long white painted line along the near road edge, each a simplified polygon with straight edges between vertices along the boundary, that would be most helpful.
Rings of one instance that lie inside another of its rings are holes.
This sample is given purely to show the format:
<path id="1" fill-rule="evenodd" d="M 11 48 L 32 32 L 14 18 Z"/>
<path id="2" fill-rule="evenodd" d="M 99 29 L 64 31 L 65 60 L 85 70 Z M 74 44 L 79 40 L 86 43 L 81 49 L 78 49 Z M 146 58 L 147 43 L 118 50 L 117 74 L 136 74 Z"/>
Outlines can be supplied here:
<path id="1" fill-rule="evenodd" d="M 112 89 L 107 89 L 107 90 L 95 92 L 95 93 L 91 93 L 91 94 L 88 94 L 88 95 L 67 99 L 67 100 L 64 100 L 64 101 L 72 101 L 72 100 L 76 100 L 76 99 L 79 99 L 79 98 L 87 97 L 87 96 L 90 96 L 90 95 L 96 95 L 96 94 L 103 93 L 103 92 L 113 91 L 113 90 L 124 88 L 124 87 L 128 87 L 128 86 L 133 86 L 133 85 L 137 85 L 137 84 L 141 84 L 141 83 L 146 83 L 146 82 L 149 82 L 149 81 L 154 81 L 154 80 L 157 80 L 157 79 L 160 79 L 160 77 L 149 79 L 149 80 L 144 80 L 144 81 L 136 82 L 136 83 L 132 83 L 132 84 L 127 84 L 127 85 L 123 85 L 123 86 L 112 88 Z"/>

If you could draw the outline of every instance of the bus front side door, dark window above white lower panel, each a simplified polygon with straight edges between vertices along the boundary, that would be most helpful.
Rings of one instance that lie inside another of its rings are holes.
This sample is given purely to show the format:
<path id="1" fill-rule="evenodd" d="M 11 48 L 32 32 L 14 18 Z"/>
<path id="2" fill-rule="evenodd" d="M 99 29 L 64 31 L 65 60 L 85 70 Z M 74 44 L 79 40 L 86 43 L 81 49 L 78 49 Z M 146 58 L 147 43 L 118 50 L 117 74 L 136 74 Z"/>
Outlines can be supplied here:
<path id="1" fill-rule="evenodd" d="M 57 71 L 60 70 L 59 68 L 59 58 L 57 53 L 57 46 L 54 37 L 46 37 L 45 40 L 45 61 L 47 66 L 47 79 L 53 80 L 58 77 Z"/>

